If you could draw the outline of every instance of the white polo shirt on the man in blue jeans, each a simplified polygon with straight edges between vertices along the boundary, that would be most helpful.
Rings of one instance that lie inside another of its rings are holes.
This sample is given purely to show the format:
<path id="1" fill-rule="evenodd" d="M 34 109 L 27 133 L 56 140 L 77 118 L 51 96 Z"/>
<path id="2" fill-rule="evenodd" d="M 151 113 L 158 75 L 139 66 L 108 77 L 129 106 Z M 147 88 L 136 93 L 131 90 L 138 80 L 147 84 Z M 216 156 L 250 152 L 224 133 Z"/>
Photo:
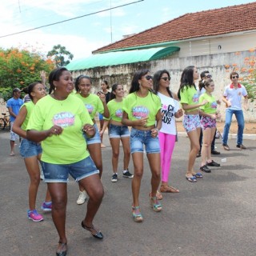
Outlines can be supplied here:
<path id="1" fill-rule="evenodd" d="M 231 110 L 242 110 L 242 96 L 247 96 L 246 87 L 238 83 L 238 88 L 235 89 L 233 83 L 230 86 L 226 86 L 223 96 L 231 103 Z"/>

